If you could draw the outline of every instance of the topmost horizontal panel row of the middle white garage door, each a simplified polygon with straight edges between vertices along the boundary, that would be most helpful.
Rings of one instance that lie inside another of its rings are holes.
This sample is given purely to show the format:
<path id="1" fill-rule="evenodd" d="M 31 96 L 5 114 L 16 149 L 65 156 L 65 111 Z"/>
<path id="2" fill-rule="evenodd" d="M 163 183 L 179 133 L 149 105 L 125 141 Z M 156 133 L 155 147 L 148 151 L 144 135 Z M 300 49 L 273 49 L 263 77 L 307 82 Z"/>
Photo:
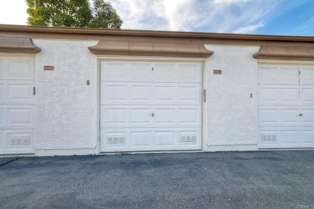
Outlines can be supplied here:
<path id="1" fill-rule="evenodd" d="M 101 81 L 202 83 L 202 64 L 102 61 Z"/>

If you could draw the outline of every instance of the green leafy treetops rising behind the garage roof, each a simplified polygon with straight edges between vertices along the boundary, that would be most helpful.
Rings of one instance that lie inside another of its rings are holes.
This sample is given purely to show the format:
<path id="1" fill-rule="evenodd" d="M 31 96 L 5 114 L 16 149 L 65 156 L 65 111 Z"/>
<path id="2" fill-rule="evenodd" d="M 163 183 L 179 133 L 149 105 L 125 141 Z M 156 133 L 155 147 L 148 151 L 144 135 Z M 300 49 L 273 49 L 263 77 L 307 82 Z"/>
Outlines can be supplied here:
<path id="1" fill-rule="evenodd" d="M 64 27 L 121 28 L 123 21 L 109 2 L 94 0 L 26 0 L 27 24 Z"/>

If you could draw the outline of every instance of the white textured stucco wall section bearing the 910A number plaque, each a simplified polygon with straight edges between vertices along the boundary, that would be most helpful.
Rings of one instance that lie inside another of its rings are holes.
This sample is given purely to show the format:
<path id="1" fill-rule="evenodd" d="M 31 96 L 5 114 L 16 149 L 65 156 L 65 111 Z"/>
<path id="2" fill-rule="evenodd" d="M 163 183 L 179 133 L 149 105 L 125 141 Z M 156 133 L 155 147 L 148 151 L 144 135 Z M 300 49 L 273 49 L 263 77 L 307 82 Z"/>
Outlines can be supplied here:
<path id="1" fill-rule="evenodd" d="M 253 54 L 260 47 L 205 46 L 214 51 L 206 59 L 207 150 L 210 145 L 236 145 L 226 147 L 237 150 L 237 145 L 256 144 L 257 59 Z M 222 74 L 213 74 L 213 70 L 222 70 Z"/>

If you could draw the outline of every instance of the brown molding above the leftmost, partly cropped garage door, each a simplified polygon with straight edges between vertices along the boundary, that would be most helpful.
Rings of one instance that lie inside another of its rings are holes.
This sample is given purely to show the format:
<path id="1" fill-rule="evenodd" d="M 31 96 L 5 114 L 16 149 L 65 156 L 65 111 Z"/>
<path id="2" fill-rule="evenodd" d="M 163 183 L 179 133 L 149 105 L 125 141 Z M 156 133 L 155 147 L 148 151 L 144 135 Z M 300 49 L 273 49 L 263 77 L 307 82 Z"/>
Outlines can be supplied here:
<path id="1" fill-rule="evenodd" d="M 0 37 L 0 52 L 36 54 L 41 51 L 30 38 Z"/>

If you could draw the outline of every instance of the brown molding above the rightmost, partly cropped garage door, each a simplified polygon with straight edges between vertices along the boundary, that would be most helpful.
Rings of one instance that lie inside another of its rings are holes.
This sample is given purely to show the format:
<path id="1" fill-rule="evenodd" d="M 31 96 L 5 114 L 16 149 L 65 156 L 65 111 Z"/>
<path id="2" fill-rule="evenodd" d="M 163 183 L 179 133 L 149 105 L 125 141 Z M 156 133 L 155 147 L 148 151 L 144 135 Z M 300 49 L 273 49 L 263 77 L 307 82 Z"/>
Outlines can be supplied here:
<path id="1" fill-rule="evenodd" d="M 253 57 L 269 60 L 314 60 L 314 47 L 262 46 Z"/>

